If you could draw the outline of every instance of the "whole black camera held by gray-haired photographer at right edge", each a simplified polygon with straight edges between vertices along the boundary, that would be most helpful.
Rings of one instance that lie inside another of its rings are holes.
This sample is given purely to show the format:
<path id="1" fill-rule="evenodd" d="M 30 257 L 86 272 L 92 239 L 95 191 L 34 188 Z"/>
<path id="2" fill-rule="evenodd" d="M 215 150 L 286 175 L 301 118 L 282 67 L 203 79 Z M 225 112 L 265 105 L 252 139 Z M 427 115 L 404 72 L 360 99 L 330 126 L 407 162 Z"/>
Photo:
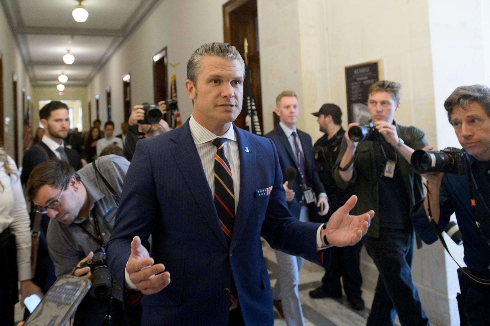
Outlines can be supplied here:
<path id="1" fill-rule="evenodd" d="M 410 159 L 417 173 L 448 172 L 466 174 L 466 155 L 459 148 L 446 147 L 440 152 L 417 149 Z"/>

